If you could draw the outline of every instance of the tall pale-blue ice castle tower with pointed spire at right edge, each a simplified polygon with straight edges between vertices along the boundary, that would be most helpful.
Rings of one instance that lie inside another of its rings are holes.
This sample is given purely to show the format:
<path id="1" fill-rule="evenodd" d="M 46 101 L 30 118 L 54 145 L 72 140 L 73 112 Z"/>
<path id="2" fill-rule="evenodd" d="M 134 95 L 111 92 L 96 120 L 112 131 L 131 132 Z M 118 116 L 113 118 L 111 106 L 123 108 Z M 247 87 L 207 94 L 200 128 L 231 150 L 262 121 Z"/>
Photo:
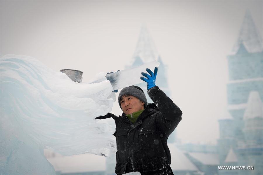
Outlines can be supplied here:
<path id="1" fill-rule="evenodd" d="M 263 174 L 262 36 L 247 11 L 237 42 L 227 56 L 228 111 L 219 120 L 219 163 L 254 166 L 254 170 L 220 170 L 219 174 Z"/>

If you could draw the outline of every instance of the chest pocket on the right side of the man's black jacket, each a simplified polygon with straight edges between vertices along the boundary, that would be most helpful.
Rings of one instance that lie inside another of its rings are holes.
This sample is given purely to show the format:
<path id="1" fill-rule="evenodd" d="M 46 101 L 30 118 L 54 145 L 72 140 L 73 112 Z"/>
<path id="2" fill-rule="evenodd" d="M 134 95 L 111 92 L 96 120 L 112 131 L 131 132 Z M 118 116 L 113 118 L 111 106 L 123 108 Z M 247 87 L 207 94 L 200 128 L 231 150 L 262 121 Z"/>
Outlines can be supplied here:
<path id="1" fill-rule="evenodd" d="M 159 140 L 155 138 L 154 130 L 148 132 L 139 132 L 139 144 L 141 149 L 156 148 Z"/>

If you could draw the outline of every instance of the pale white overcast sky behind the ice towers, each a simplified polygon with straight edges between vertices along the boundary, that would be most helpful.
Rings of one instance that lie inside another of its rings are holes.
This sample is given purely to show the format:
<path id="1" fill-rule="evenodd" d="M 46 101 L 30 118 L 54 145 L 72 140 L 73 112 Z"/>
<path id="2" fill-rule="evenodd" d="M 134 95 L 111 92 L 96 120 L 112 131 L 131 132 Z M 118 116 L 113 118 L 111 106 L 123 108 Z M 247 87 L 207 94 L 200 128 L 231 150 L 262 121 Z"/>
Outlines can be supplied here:
<path id="1" fill-rule="evenodd" d="M 124 69 L 145 23 L 168 66 L 171 98 L 183 111 L 178 138 L 216 144 L 227 107 L 226 56 L 247 9 L 262 36 L 262 1 L 1 0 L 1 56 L 28 55 L 54 71 L 81 70 L 84 82 Z M 117 102 L 112 113 L 121 114 Z"/>

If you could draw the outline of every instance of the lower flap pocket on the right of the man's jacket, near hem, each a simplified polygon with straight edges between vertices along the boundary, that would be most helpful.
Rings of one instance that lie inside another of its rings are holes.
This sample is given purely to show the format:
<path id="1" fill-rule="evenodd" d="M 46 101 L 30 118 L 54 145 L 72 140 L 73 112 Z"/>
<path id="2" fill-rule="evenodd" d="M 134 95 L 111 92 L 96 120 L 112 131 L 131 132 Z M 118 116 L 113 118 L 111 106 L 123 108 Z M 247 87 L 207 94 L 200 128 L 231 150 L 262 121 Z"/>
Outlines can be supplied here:
<path id="1" fill-rule="evenodd" d="M 141 160 L 141 164 L 142 164 L 143 171 L 162 170 L 167 166 L 165 157 Z"/>

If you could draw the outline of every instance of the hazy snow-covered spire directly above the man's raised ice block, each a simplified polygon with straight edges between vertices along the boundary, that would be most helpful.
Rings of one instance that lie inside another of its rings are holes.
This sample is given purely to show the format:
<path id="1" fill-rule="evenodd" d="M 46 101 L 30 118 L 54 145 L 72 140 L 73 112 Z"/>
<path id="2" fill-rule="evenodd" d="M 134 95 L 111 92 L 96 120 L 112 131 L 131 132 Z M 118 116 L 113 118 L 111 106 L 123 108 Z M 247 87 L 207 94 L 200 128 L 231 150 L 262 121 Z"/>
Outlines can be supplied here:
<path id="1" fill-rule="evenodd" d="M 158 57 L 157 50 L 150 34 L 148 33 L 146 24 L 143 24 L 141 27 L 139 39 L 133 54 L 133 58 L 136 57 L 140 57 L 144 63 L 157 60 Z"/>

